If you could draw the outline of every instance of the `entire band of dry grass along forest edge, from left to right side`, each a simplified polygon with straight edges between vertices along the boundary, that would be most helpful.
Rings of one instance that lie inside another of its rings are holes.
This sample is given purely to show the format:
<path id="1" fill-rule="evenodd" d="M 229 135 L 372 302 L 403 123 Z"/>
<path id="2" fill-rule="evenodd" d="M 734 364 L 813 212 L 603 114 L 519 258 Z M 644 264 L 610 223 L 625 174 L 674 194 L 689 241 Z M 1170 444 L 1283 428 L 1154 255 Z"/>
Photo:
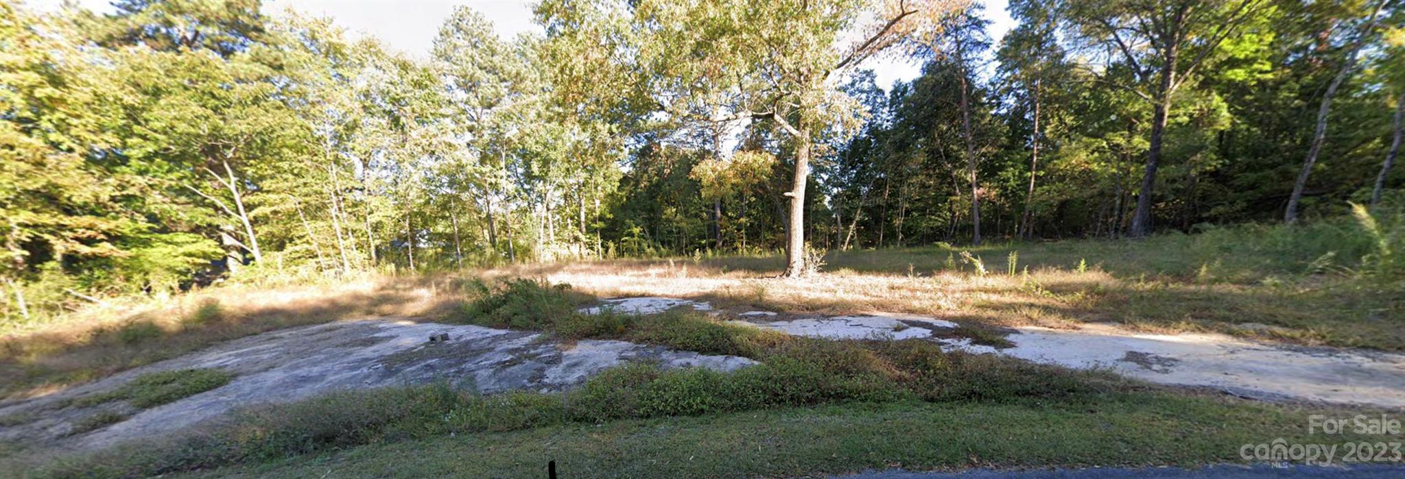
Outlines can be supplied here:
<path id="1" fill-rule="evenodd" d="M 1405 303 L 1391 285 L 1298 274 L 1263 257 L 1194 257 L 1170 237 L 989 246 L 981 275 L 947 247 L 849 251 L 825 273 L 780 280 L 783 260 L 712 257 L 518 264 L 302 287 L 221 287 L 93 306 L 0 339 L 0 395 L 31 396 L 281 327 L 367 316 L 461 313 L 465 280 L 540 277 L 594 296 L 676 296 L 788 313 L 903 312 L 974 327 L 1116 322 L 1149 332 L 1220 332 L 1298 344 L 1405 350 Z M 1016 274 L 1007 253 L 1019 250 Z M 1273 251 L 1269 251 L 1273 253 Z M 1269 254 L 1263 253 L 1263 254 Z M 1273 253 L 1277 254 L 1277 253 Z M 1236 324 L 1255 323 L 1253 327 Z"/>

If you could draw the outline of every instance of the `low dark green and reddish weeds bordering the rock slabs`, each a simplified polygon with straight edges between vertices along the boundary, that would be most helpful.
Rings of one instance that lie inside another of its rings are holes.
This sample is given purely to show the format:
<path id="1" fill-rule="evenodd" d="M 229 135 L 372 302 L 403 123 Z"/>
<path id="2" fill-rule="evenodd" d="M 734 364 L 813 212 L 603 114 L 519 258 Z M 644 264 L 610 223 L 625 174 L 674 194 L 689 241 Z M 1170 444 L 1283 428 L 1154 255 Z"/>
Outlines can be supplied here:
<path id="1" fill-rule="evenodd" d="M 760 364 L 731 374 L 628 364 L 565 393 L 476 396 L 444 383 L 341 392 L 244 410 L 212 431 L 100 452 L 48 471 L 53 476 L 148 476 L 444 434 L 851 402 L 1068 402 L 1141 388 L 1106 375 L 944 353 L 930 341 L 792 337 L 717 322 L 688 309 L 651 316 L 559 315 L 559 305 L 569 303 L 566 296 L 570 291 L 562 285 L 514 280 L 468 309 L 471 319 L 495 324 L 739 354 Z M 181 378 L 192 376 L 195 371 L 146 375 L 91 400 L 125 398 L 136 405 L 143 392 L 187 383 Z"/>

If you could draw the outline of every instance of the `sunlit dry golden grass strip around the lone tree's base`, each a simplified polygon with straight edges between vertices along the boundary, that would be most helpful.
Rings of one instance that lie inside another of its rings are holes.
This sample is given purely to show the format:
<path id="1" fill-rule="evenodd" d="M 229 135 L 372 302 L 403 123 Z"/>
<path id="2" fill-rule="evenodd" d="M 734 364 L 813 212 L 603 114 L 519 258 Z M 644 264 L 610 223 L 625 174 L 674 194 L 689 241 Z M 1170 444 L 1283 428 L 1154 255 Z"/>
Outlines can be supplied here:
<path id="1" fill-rule="evenodd" d="M 832 254 L 812 278 L 776 278 L 780 257 L 618 260 L 518 265 L 489 277 L 545 277 L 576 291 L 610 296 L 676 296 L 724 309 L 792 313 L 903 312 L 974 326 L 1073 327 L 1113 322 L 1145 332 L 1218 332 L 1308 346 L 1405 348 L 1398 299 L 1370 282 L 1342 275 L 1264 277 L 1235 271 L 1207 280 L 1204 268 L 1159 270 L 1155 256 L 1121 253 L 1121 261 L 1085 263 L 1055 243 L 1028 244 L 1014 275 L 1003 273 L 1006 250 L 986 253 L 979 275 L 950 267 L 947 249 Z M 1155 244 L 1148 244 L 1152 249 Z M 1227 274 L 1228 275 L 1228 274 Z M 1388 288 L 1387 288 L 1388 289 Z M 1249 324 L 1243 327 L 1239 324 Z M 1263 327 L 1267 326 L 1267 327 Z"/>

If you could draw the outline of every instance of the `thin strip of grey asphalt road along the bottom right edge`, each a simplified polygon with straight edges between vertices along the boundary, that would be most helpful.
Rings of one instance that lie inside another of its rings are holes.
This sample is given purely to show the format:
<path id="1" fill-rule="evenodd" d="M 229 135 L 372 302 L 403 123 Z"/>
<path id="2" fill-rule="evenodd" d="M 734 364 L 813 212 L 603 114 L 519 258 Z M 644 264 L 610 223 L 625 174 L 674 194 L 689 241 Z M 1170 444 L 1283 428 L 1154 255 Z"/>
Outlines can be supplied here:
<path id="1" fill-rule="evenodd" d="M 1047 469 L 1047 471 L 964 471 L 964 472 L 863 472 L 842 479 L 1399 479 L 1405 478 L 1405 464 L 1338 466 L 1238 466 L 1221 465 L 1200 469 Z"/>

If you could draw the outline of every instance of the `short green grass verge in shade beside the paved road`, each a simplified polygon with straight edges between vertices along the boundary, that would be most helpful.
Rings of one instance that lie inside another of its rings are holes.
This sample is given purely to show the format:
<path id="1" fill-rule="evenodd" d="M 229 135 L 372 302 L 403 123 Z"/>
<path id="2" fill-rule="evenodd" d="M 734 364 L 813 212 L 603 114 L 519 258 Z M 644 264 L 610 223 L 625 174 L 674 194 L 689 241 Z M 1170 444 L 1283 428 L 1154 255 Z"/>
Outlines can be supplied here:
<path id="1" fill-rule="evenodd" d="M 437 435 L 198 476 L 568 478 L 813 476 L 902 466 L 1020 468 L 1239 462 L 1239 447 L 1307 435 L 1309 413 L 1175 395 L 1076 403 L 849 403 Z M 1335 437 L 1345 442 L 1353 437 Z M 1375 440 L 1380 440 L 1377 437 Z M 414 458 L 406 461 L 406 458 Z"/>

